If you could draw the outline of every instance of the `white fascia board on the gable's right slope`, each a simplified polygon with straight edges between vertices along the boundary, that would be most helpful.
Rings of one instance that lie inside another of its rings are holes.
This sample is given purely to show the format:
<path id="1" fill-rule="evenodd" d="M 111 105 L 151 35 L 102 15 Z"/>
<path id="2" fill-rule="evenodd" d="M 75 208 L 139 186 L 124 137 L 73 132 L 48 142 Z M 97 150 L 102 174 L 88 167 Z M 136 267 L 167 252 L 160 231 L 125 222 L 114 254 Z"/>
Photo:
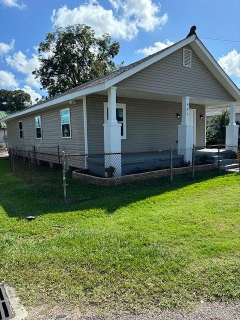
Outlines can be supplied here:
<path id="1" fill-rule="evenodd" d="M 207 50 L 204 44 L 196 38 L 191 44 L 191 48 L 195 51 L 202 62 L 207 66 L 215 78 L 221 83 L 221 85 L 231 94 L 231 96 L 238 102 L 240 102 L 240 90 L 235 83 L 225 73 L 221 66 L 217 63 L 211 53 Z"/>

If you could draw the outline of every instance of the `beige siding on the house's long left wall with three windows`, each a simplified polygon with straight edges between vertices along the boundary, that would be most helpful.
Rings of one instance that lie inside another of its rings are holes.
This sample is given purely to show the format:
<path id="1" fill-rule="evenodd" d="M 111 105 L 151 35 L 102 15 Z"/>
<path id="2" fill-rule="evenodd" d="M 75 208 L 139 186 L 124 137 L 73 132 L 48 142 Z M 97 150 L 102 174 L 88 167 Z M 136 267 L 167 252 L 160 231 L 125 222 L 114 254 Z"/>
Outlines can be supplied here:
<path id="1" fill-rule="evenodd" d="M 69 107 L 71 138 L 61 137 L 60 110 Z M 42 139 L 36 139 L 35 116 L 41 115 Z M 19 139 L 18 121 L 22 121 L 23 139 Z M 59 149 L 70 153 L 84 153 L 84 126 L 82 100 L 74 105 L 64 104 L 45 111 L 32 112 L 7 122 L 8 145 L 34 144 L 59 145 Z"/>

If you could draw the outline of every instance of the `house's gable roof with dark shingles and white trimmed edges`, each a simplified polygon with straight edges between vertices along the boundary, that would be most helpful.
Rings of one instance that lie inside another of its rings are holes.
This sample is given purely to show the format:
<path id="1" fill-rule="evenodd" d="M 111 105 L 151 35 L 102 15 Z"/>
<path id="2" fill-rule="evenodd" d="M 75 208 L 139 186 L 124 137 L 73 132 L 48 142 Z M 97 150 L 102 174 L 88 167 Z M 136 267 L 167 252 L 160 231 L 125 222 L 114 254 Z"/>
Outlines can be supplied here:
<path id="1" fill-rule="evenodd" d="M 171 54 L 172 52 L 178 50 L 179 48 L 189 44 L 192 49 L 196 52 L 199 58 L 204 62 L 208 69 L 214 73 L 216 79 L 222 84 L 222 86 L 233 96 L 233 98 L 240 102 L 240 90 L 237 88 L 235 83 L 229 78 L 225 71 L 216 62 L 214 57 L 206 49 L 203 43 L 197 38 L 195 34 L 186 37 L 174 44 L 150 54 L 136 62 L 133 62 L 127 66 L 123 66 L 109 74 L 102 77 L 96 78 L 94 80 L 83 83 L 72 89 L 66 90 L 54 97 L 48 98 L 46 100 L 40 101 L 28 108 L 21 111 L 15 112 L 12 115 L 8 115 L 4 120 L 9 120 L 14 117 L 36 111 L 45 107 L 53 106 L 57 103 L 64 102 L 74 98 L 81 98 L 86 94 L 99 92 L 107 89 L 108 87 L 116 84 L 117 82 L 127 78 L 128 76 L 142 70 L 146 66 L 162 59 L 163 57 Z"/>

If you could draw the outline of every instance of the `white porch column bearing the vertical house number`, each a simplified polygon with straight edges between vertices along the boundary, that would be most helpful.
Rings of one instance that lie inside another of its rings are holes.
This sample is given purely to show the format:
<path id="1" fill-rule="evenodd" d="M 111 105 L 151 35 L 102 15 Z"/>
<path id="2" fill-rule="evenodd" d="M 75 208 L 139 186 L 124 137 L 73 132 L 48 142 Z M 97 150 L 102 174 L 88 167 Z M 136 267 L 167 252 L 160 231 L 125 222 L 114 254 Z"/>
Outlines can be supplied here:
<path id="1" fill-rule="evenodd" d="M 193 144 L 193 126 L 189 123 L 189 96 L 181 98 L 181 124 L 178 125 L 178 154 L 184 155 L 184 161 L 191 162 Z"/>

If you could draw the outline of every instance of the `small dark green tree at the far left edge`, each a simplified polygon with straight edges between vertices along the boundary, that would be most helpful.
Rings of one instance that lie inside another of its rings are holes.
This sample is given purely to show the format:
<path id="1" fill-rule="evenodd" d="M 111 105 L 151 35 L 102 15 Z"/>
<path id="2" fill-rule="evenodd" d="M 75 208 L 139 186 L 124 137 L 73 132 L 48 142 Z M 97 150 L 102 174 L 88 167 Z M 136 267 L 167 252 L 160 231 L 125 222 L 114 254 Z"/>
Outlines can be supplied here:
<path id="1" fill-rule="evenodd" d="M 23 90 L 0 89 L 0 110 L 19 111 L 31 105 L 31 97 Z"/>

